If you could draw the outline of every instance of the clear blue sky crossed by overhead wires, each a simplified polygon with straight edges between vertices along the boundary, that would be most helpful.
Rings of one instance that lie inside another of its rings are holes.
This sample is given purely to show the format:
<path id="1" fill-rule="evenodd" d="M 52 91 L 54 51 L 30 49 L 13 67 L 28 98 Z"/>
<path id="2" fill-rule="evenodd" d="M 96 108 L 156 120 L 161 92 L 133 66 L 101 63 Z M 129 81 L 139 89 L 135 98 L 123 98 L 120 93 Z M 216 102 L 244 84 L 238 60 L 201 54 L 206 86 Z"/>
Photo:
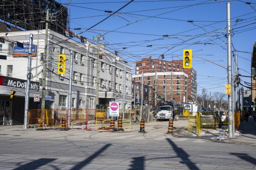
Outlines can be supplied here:
<path id="1" fill-rule="evenodd" d="M 71 30 L 84 31 L 108 16 L 105 10 L 115 12 L 129 1 L 124 0 L 65 0 L 70 9 Z M 165 55 L 168 61 L 182 59 L 183 49 L 192 49 L 194 56 L 201 56 L 227 65 L 226 3 L 225 0 L 137 0 L 127 5 L 118 14 L 111 16 L 91 30 L 82 33 L 92 39 L 104 34 L 102 43 L 132 65 L 143 57 L 158 58 Z M 232 50 L 237 50 L 241 75 L 250 76 L 250 60 L 256 41 L 255 0 L 230 1 Z M 247 5 L 245 2 L 251 2 Z M 152 17 L 155 16 L 155 17 Z M 193 22 L 188 22 L 193 20 Z M 121 28 L 122 27 L 122 28 Z M 115 30 L 115 31 L 113 31 Z M 112 31 L 112 32 L 108 32 Z M 163 35 L 169 35 L 163 37 Z M 147 46 L 152 45 L 152 46 Z M 123 49 L 125 47 L 125 49 Z M 232 57 L 233 61 L 233 57 Z M 224 92 L 227 71 L 217 65 L 193 58 L 197 71 L 198 93 L 202 88 L 208 92 Z M 248 78 L 242 81 L 250 82 Z"/>

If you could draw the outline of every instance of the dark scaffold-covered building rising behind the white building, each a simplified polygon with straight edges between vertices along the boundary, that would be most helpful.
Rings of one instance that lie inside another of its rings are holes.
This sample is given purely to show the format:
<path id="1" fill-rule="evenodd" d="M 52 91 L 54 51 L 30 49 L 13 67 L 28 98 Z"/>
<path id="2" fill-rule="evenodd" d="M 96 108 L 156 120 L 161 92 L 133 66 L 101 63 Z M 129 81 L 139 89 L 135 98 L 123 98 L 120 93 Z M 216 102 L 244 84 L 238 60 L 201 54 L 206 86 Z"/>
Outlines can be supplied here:
<path id="1" fill-rule="evenodd" d="M 54 0 L 2 0 L 0 2 L 0 32 L 45 29 L 49 9 L 49 29 L 65 34 L 69 27 L 68 8 Z"/>

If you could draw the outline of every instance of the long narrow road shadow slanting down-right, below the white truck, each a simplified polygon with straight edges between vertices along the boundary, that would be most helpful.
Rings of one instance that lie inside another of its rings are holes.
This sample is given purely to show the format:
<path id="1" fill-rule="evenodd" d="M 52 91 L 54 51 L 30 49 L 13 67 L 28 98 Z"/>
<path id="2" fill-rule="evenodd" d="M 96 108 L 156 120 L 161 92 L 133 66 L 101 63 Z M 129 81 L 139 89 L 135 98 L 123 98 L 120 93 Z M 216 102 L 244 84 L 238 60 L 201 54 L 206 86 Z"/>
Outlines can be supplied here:
<path id="1" fill-rule="evenodd" d="M 167 138 L 166 140 L 173 147 L 177 156 L 182 159 L 181 163 L 186 164 L 189 169 L 199 170 L 199 168 L 195 165 L 195 163 L 193 163 L 192 161 L 189 160 L 189 158 L 188 158 L 189 155 L 182 148 L 177 147 L 177 145 L 172 140 L 170 140 L 169 138 Z"/>

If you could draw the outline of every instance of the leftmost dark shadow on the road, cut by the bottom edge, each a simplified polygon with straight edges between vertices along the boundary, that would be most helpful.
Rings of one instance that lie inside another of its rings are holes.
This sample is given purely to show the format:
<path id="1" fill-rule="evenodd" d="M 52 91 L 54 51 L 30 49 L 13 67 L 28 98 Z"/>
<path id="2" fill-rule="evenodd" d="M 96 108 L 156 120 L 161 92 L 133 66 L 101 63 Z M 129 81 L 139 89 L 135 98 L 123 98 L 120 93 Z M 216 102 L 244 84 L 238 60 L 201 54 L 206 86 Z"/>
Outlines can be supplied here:
<path id="1" fill-rule="evenodd" d="M 34 160 L 32 162 L 29 162 L 25 165 L 22 165 L 22 166 L 19 166 L 13 170 L 25 170 L 25 169 L 30 169 L 30 170 L 33 170 L 33 169 L 38 169 L 38 167 L 42 166 L 42 165 L 45 165 L 47 163 L 50 163 L 52 161 L 54 161 L 56 159 L 50 159 L 50 158 L 41 158 L 41 159 L 37 159 L 37 160 Z"/>

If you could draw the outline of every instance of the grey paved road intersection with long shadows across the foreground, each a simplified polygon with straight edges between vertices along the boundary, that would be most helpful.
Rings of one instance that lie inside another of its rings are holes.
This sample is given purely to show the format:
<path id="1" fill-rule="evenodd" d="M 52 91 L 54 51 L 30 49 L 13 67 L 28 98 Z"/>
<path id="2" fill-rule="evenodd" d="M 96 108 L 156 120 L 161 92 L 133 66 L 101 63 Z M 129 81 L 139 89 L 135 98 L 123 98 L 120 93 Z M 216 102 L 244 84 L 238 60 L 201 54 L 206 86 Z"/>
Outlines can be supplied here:
<path id="1" fill-rule="evenodd" d="M 256 147 L 147 133 L 0 127 L 0 169 L 256 169 Z M 151 127 L 150 127 L 151 126 Z"/>

